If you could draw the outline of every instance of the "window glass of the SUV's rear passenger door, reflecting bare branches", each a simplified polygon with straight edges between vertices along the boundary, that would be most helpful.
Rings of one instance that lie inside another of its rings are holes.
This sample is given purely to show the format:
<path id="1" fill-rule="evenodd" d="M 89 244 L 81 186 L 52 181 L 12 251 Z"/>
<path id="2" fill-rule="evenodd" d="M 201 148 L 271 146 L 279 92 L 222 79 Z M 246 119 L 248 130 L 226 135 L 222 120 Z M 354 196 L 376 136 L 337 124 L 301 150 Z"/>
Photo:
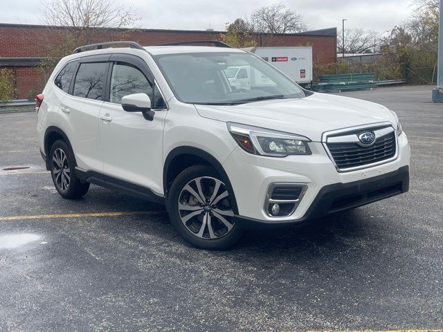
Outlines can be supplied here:
<path id="1" fill-rule="evenodd" d="M 103 100 L 107 62 L 80 64 L 74 82 L 75 97 Z"/>

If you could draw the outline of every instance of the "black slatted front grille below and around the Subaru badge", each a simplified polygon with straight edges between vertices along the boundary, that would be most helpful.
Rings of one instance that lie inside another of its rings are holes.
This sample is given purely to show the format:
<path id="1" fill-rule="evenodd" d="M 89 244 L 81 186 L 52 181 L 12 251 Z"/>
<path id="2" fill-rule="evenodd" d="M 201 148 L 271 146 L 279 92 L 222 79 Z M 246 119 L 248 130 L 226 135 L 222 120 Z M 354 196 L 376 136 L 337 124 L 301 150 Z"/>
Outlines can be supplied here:
<path id="1" fill-rule="evenodd" d="M 328 142 L 327 148 L 339 169 L 370 165 L 395 156 L 395 131 L 377 138 L 370 147 L 356 142 Z"/>

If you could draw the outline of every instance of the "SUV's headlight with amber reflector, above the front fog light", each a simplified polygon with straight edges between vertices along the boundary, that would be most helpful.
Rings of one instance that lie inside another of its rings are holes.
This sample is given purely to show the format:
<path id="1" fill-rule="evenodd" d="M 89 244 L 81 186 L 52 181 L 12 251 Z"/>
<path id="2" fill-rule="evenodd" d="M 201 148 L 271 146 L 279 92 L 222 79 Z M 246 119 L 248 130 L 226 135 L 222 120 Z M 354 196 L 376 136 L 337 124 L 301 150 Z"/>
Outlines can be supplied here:
<path id="1" fill-rule="evenodd" d="M 239 147 L 250 154 L 272 157 L 312 154 L 307 144 L 310 140 L 304 136 L 232 122 L 228 122 L 228 130 Z"/>

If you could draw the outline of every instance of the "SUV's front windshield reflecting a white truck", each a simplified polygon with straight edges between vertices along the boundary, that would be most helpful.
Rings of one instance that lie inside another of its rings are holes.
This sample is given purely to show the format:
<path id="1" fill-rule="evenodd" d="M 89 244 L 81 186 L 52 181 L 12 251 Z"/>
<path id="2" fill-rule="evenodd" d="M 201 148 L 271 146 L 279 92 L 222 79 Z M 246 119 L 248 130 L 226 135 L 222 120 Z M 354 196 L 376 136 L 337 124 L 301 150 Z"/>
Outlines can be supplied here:
<path id="1" fill-rule="evenodd" d="M 154 59 L 181 102 L 243 104 L 306 96 L 300 86 L 251 53 L 180 53 Z"/>

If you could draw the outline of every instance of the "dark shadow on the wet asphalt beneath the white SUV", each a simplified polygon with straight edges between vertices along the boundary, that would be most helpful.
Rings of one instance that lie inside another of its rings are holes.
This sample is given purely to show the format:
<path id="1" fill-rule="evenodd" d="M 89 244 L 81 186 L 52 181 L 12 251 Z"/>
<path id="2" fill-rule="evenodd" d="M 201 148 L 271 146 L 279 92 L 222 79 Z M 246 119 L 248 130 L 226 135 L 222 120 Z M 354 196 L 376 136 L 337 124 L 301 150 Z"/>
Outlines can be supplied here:
<path id="1" fill-rule="evenodd" d="M 111 205 L 110 205 L 111 202 Z M 132 196 L 101 190 L 100 195 L 91 195 L 82 202 L 88 206 L 101 205 L 103 210 L 133 210 L 163 212 L 156 216 L 134 216 L 125 222 L 125 228 L 138 232 L 152 233 L 162 241 L 173 242 L 189 250 L 199 250 L 179 237 L 170 224 L 163 205 L 150 203 Z M 80 203 L 81 204 L 81 203 Z M 301 262 L 312 257 L 348 252 L 350 248 L 363 246 L 365 241 L 377 237 L 383 226 L 377 217 L 372 218 L 365 208 L 332 214 L 299 226 L 275 228 L 271 230 L 246 230 L 244 236 L 228 250 L 213 251 L 211 255 L 242 259 L 262 257 L 262 259 L 296 259 Z M 284 255 L 282 255 L 284 254 Z"/>

